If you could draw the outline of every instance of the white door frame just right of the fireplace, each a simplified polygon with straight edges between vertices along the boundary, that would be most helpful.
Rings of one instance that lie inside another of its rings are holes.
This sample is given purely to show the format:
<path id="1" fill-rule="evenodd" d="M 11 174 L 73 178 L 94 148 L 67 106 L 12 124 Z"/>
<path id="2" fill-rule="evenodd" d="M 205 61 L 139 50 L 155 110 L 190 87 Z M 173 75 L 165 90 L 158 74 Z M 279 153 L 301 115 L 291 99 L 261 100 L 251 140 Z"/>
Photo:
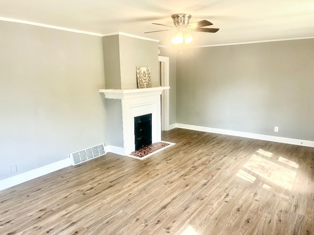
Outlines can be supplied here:
<path id="1" fill-rule="evenodd" d="M 164 87 L 169 87 L 169 57 L 168 56 L 158 56 L 159 62 L 164 62 L 163 70 L 163 83 Z M 169 130 L 169 89 L 163 90 L 163 99 L 161 107 L 163 107 L 163 123 L 161 123 L 161 129 L 168 131 Z"/>

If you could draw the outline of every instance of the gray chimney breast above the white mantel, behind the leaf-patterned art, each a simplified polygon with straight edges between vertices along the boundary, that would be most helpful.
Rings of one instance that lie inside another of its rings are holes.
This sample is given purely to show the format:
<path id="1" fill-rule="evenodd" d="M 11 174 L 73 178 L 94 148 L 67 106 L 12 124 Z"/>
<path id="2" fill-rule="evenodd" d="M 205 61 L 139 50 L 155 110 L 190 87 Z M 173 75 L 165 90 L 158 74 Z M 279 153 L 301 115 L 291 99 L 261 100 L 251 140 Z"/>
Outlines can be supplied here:
<path id="1" fill-rule="evenodd" d="M 103 37 L 106 89 L 136 89 L 136 66 L 150 67 L 158 87 L 158 43 L 126 35 Z"/>

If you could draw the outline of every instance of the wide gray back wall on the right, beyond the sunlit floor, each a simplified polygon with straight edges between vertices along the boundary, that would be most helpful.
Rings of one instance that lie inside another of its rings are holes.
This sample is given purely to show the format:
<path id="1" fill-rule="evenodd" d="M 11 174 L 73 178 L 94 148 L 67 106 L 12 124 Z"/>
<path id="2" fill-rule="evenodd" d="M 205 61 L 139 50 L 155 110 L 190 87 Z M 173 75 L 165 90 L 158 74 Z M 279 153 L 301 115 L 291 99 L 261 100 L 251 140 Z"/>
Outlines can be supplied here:
<path id="1" fill-rule="evenodd" d="M 314 39 L 184 49 L 177 122 L 314 141 L 313 51 Z"/>

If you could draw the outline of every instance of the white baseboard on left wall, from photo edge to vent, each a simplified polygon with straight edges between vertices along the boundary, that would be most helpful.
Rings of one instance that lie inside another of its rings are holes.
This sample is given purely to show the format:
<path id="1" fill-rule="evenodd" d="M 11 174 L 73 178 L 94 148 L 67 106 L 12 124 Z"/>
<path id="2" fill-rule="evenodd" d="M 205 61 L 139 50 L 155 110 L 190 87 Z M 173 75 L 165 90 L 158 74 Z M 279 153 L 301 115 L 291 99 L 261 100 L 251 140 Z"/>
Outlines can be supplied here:
<path id="1" fill-rule="evenodd" d="M 49 174 L 53 171 L 68 167 L 70 165 L 71 165 L 70 158 L 67 158 L 52 164 L 44 165 L 42 167 L 0 180 L 0 190 L 22 184 L 26 181 Z"/>

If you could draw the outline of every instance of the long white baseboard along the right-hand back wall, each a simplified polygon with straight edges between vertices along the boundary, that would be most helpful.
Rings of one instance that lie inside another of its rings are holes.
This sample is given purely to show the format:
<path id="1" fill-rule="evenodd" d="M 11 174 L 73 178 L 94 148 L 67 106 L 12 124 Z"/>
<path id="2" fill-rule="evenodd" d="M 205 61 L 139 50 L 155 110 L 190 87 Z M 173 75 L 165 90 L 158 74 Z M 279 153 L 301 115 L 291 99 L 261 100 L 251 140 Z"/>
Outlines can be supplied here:
<path id="1" fill-rule="evenodd" d="M 314 141 L 290 139 L 286 137 L 268 136 L 268 135 L 262 135 L 262 134 L 231 131 L 231 130 L 225 130 L 225 129 L 204 127 L 204 126 L 194 126 L 194 125 L 181 124 L 181 123 L 176 123 L 176 127 L 194 130 L 194 131 L 204 131 L 204 132 L 210 132 L 210 133 L 215 133 L 215 134 L 245 137 L 245 138 L 250 138 L 250 139 L 255 139 L 255 140 L 273 141 L 273 142 L 279 142 L 279 143 L 288 143 L 288 144 L 294 144 L 294 145 L 314 147 Z"/>

